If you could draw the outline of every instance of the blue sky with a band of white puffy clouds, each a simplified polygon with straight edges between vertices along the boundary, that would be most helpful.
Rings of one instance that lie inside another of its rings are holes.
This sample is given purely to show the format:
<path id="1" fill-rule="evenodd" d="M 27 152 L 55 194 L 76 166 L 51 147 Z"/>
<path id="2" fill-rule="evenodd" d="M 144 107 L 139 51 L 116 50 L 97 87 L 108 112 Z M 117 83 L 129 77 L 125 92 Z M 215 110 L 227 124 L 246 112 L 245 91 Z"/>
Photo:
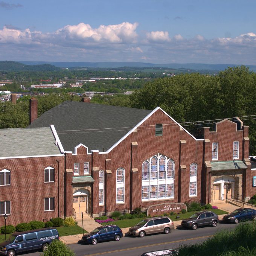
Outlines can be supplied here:
<path id="1" fill-rule="evenodd" d="M 255 0 L 0 0 L 0 60 L 256 65 Z"/>

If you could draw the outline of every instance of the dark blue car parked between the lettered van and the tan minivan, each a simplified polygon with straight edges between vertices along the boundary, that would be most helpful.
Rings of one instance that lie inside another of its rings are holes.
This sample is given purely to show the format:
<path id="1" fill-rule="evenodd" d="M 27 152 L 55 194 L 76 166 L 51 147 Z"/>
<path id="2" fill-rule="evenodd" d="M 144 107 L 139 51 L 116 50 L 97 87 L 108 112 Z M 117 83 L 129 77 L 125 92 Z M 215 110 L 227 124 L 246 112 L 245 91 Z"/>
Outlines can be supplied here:
<path id="1" fill-rule="evenodd" d="M 101 241 L 115 240 L 119 241 L 123 237 L 123 232 L 116 225 L 106 225 L 97 227 L 91 233 L 83 235 L 82 242 L 97 244 Z"/>

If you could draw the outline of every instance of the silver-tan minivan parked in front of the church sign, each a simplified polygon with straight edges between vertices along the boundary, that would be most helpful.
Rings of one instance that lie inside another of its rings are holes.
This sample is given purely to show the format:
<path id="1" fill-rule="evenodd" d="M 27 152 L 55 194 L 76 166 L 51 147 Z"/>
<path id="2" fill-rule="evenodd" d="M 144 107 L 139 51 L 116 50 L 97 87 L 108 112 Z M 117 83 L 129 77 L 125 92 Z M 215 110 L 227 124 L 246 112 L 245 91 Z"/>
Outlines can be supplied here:
<path id="1" fill-rule="evenodd" d="M 136 226 L 129 229 L 129 235 L 144 237 L 153 233 L 168 234 L 171 229 L 174 229 L 173 222 L 168 217 L 154 217 L 143 219 Z"/>

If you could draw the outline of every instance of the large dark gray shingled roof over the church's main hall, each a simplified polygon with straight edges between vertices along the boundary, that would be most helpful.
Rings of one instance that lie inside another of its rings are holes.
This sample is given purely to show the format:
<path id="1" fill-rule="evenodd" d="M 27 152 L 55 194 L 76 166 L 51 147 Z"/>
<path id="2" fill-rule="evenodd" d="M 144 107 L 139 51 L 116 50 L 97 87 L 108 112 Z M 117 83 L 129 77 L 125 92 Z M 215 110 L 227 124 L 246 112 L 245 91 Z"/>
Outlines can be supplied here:
<path id="1" fill-rule="evenodd" d="M 29 127 L 53 124 L 65 151 L 73 152 L 75 146 L 82 143 L 88 147 L 88 152 L 102 152 L 111 148 L 149 113 L 151 110 L 66 101 L 46 111 Z"/>

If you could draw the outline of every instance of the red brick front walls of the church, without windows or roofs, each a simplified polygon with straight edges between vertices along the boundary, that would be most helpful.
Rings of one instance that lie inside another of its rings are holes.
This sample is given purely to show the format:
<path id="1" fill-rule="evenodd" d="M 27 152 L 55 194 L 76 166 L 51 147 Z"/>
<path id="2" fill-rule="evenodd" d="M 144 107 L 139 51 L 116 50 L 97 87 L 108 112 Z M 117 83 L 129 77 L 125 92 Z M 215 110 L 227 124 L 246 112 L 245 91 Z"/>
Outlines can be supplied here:
<path id="1" fill-rule="evenodd" d="M 163 124 L 162 136 L 155 135 L 155 124 L 159 123 Z M 211 203 L 215 176 L 227 176 L 232 180 L 235 174 L 241 175 L 242 178 L 237 184 L 242 184 L 242 197 L 251 197 L 256 194 L 256 187 L 252 186 L 255 171 L 251 171 L 248 161 L 248 127 L 242 126 L 241 130 L 237 127 L 235 122 L 222 120 L 216 124 L 215 131 L 202 128 L 203 139 L 195 139 L 158 108 L 109 152 L 98 150 L 87 152 L 86 145 L 80 145 L 75 153 L 65 152 L 63 156 L 58 157 L 0 159 L 0 171 L 3 169 L 11 171 L 11 185 L 0 187 L 0 201 L 11 201 L 11 216 L 7 223 L 17 224 L 34 219 L 49 220 L 58 216 L 72 216 L 73 194 L 79 189 L 88 191 L 87 209 L 83 212 L 92 212 L 94 216 L 97 216 L 100 211 L 113 212 L 115 209 L 125 208 L 132 211 L 139 206 L 148 207 L 161 203 L 184 203 L 189 200 Z M 213 142 L 218 142 L 218 160 L 216 161 L 212 161 Z M 213 162 L 233 161 L 233 142 L 239 142 L 239 157 L 236 160 L 243 161 L 247 168 L 239 171 L 236 169 L 212 171 Z M 142 200 L 143 162 L 158 154 L 174 161 L 174 196 Z M 79 163 L 77 175 L 73 173 L 74 163 Z M 84 163 L 89 163 L 89 174 L 84 174 Z M 190 196 L 190 165 L 192 163 L 197 164 L 195 196 Z M 48 166 L 55 169 L 53 183 L 44 183 L 44 169 Z M 116 202 L 117 169 L 119 168 L 124 169 L 124 200 L 121 203 Z M 99 202 L 101 170 L 104 171 L 103 204 Z M 74 177 L 89 176 L 94 181 L 84 183 L 79 181 L 76 184 L 73 181 Z M 239 188 L 235 187 L 236 189 Z M 45 212 L 44 198 L 48 197 L 55 198 L 55 209 Z M 0 225 L 3 225 L 3 222 L 4 218 L 0 218 Z"/>

